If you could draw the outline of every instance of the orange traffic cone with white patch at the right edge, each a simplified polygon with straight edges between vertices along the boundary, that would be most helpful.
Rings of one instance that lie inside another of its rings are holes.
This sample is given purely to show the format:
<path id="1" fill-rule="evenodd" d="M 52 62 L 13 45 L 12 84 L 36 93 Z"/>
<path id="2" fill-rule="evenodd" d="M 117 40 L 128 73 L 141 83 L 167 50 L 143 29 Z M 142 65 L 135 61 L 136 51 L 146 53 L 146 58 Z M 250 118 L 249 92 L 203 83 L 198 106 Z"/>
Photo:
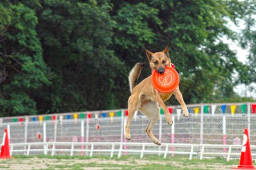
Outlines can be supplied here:
<path id="1" fill-rule="evenodd" d="M 240 164 L 236 168 L 232 169 L 256 169 L 252 165 L 252 155 L 251 155 L 251 147 L 250 147 L 250 139 L 248 134 L 248 129 L 244 129 L 244 140 L 243 147 L 241 150 Z"/>

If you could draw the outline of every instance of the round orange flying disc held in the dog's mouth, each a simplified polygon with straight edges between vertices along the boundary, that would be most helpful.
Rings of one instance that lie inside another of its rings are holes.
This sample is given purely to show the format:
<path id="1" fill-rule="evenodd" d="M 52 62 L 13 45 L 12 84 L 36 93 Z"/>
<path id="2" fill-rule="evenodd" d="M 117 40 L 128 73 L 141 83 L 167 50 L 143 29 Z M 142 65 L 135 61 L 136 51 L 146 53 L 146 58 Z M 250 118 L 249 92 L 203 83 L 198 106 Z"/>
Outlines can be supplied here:
<path id="1" fill-rule="evenodd" d="M 180 78 L 173 67 L 166 66 L 163 74 L 159 74 L 156 70 L 153 71 L 151 82 L 156 90 L 169 93 L 179 86 Z"/>

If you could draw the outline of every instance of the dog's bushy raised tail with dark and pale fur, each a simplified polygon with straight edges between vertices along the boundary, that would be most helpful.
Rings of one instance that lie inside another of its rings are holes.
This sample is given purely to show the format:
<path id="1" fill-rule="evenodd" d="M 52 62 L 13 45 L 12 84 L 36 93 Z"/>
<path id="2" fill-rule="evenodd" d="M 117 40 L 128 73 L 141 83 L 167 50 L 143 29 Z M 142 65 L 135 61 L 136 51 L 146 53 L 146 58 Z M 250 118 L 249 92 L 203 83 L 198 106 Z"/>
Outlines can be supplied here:
<path id="1" fill-rule="evenodd" d="M 142 67 L 144 67 L 145 63 L 136 63 L 132 70 L 129 73 L 129 83 L 130 83 L 130 91 L 132 92 L 132 89 L 137 85 L 138 79 L 140 77 L 140 72 Z"/>

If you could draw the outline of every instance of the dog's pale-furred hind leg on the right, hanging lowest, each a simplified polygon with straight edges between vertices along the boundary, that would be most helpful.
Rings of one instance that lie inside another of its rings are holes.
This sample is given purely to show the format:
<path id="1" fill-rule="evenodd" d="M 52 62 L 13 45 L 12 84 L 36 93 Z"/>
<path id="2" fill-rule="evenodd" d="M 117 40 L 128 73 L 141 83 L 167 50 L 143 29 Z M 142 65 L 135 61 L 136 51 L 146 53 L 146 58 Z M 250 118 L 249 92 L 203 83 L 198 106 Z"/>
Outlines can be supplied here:
<path id="1" fill-rule="evenodd" d="M 147 104 L 143 105 L 140 108 L 140 111 L 148 117 L 148 125 L 146 128 L 146 133 L 148 134 L 149 138 L 156 144 L 161 145 L 161 142 L 156 139 L 153 134 L 153 128 L 159 118 L 159 111 L 160 108 L 156 102 L 149 101 Z"/>

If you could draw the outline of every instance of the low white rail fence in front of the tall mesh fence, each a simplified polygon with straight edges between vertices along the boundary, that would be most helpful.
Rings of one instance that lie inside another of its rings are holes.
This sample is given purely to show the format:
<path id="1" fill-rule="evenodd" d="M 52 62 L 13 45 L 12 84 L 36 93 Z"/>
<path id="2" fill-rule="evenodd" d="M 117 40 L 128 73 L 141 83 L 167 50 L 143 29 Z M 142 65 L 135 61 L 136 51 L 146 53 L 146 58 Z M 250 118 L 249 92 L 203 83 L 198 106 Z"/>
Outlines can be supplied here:
<path id="1" fill-rule="evenodd" d="M 194 157 L 203 159 L 204 157 L 221 156 L 230 158 L 239 158 L 241 155 L 240 145 L 196 145 L 181 143 L 162 143 L 156 146 L 154 143 L 122 143 L 122 142 L 36 142 L 36 143 L 13 143 L 10 144 L 11 155 L 158 155 L 166 158 L 174 155 L 188 155 L 189 160 Z M 223 152 L 227 149 L 228 152 Z M 256 146 L 251 146 L 252 157 L 255 158 Z"/>

